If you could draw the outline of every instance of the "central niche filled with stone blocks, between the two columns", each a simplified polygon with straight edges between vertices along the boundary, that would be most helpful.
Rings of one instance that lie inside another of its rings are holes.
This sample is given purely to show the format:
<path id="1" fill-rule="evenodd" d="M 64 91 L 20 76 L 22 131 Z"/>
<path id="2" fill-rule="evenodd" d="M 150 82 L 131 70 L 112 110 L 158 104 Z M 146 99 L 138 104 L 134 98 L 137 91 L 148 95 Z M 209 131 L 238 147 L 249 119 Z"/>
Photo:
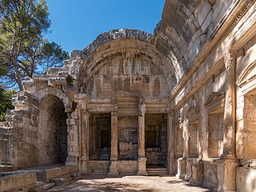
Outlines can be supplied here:
<path id="1" fill-rule="evenodd" d="M 118 117 L 118 160 L 138 159 L 138 116 Z"/>

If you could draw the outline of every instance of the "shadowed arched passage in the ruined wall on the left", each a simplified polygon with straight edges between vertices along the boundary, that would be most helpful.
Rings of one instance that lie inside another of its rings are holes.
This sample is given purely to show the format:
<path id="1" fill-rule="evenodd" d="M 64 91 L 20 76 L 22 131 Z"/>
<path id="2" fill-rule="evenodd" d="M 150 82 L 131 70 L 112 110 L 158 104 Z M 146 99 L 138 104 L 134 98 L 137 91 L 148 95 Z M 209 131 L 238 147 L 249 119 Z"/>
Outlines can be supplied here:
<path id="1" fill-rule="evenodd" d="M 40 101 L 38 127 L 39 164 L 64 163 L 67 157 L 65 107 L 60 98 L 46 94 Z"/>

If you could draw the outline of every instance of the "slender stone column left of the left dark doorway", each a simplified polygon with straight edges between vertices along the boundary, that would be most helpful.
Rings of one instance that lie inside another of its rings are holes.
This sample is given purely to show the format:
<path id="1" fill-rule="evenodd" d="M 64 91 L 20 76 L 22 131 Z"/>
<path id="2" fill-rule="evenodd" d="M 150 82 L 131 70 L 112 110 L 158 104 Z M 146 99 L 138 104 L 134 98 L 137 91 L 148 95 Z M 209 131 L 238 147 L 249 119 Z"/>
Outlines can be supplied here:
<path id="1" fill-rule="evenodd" d="M 87 174 L 87 162 L 89 161 L 89 118 L 90 113 L 86 110 L 82 114 L 81 126 L 81 170 Z"/>

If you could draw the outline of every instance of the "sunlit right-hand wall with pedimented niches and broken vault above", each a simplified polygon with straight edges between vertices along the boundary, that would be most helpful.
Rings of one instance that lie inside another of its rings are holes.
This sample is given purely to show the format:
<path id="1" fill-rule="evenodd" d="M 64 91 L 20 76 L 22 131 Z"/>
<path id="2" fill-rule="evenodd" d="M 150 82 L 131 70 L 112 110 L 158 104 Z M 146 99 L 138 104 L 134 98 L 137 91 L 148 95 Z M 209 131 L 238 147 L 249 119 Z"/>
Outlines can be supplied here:
<path id="1" fill-rule="evenodd" d="M 180 9 L 171 10 L 174 7 Z M 180 26 L 173 24 L 175 18 L 170 17 L 178 12 L 175 20 L 180 23 L 180 18 L 189 11 L 193 13 L 191 17 L 198 15 L 198 32 L 194 33 L 193 26 L 186 24 L 180 29 Z M 202 158 L 204 170 L 201 179 L 204 186 L 218 187 L 215 190 L 235 190 L 238 187 L 238 184 L 232 182 L 236 177 L 235 166 L 239 165 L 239 161 L 240 164 L 248 164 L 251 158 L 254 158 L 251 152 L 255 150 L 252 128 L 255 100 L 254 11 L 254 1 L 168 1 L 163 12 L 162 26 L 157 32 L 156 41 L 160 42 L 162 38 L 169 44 L 173 40 L 175 44 L 175 39 L 178 39 L 178 43 L 182 45 L 174 46 L 175 48 L 169 46 L 168 50 L 170 57 L 176 56 L 174 65 L 177 64 L 176 74 L 180 74 L 179 83 L 170 94 L 170 108 L 174 110 L 175 116 L 175 158 L 180 158 L 178 167 L 181 168 L 178 175 L 184 175 L 183 164 L 186 158 L 193 155 L 190 150 L 190 128 L 196 124 L 198 161 Z M 245 23 L 246 19 L 248 22 Z M 209 25 L 206 25 L 206 22 Z M 197 33 L 201 35 L 204 25 L 206 38 L 200 45 L 200 40 L 196 37 Z M 185 29 L 190 31 L 190 34 L 186 34 Z M 193 45 L 188 46 L 190 49 L 182 49 L 190 41 L 194 41 Z M 195 43 L 197 41 L 198 44 Z M 182 53 L 182 57 L 177 51 Z M 193 108 L 198 110 L 198 119 L 195 121 L 194 117 L 190 117 L 190 114 L 195 112 L 190 112 Z M 219 158 L 229 160 L 225 163 L 226 160 L 217 160 Z M 186 163 L 188 178 L 191 171 L 192 175 L 198 174 L 198 169 L 191 169 L 189 160 Z M 242 187 L 239 186 L 240 189 Z"/>

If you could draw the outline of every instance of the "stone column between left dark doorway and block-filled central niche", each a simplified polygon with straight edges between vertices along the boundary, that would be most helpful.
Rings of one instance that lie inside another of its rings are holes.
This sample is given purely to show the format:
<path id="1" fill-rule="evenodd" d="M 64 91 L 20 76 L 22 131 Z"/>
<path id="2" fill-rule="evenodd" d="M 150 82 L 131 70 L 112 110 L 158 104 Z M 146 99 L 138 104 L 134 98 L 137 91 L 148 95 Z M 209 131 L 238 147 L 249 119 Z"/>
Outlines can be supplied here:
<path id="1" fill-rule="evenodd" d="M 118 175 L 118 113 L 111 113 L 111 155 L 109 175 Z"/>

